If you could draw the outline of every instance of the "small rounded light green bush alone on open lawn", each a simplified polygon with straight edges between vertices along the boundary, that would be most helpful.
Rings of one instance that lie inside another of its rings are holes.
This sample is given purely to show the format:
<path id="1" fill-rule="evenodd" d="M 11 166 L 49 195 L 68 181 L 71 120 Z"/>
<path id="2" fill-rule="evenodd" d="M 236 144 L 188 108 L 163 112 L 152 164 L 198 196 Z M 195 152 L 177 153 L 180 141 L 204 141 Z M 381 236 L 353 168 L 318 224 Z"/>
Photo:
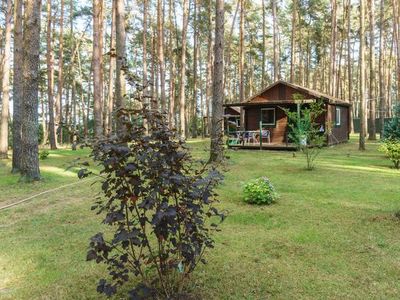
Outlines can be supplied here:
<path id="1" fill-rule="evenodd" d="M 269 205 L 276 201 L 278 195 L 267 177 L 249 181 L 244 186 L 244 201 L 251 204 Z"/>

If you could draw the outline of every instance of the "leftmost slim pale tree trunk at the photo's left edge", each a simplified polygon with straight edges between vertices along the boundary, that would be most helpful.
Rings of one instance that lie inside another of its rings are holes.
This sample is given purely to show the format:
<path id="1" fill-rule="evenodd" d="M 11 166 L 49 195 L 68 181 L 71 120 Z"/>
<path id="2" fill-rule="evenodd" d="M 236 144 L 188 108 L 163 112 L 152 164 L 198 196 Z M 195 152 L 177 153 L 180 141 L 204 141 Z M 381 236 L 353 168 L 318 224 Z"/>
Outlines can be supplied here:
<path id="1" fill-rule="evenodd" d="M 1 93 L 3 95 L 0 119 L 0 159 L 8 158 L 8 118 L 10 101 L 10 53 L 11 53 L 11 27 L 12 27 L 12 1 L 7 0 L 6 33 L 3 57 L 3 78 Z"/>

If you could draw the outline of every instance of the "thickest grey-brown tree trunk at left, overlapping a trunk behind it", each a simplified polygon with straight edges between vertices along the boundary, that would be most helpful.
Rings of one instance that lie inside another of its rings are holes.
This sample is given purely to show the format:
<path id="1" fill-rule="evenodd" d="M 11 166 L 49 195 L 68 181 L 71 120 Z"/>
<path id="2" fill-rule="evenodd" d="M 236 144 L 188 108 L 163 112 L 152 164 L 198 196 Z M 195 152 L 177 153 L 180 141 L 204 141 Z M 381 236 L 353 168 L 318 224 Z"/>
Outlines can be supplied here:
<path id="1" fill-rule="evenodd" d="M 41 1 L 26 1 L 23 30 L 23 95 L 21 179 L 40 180 L 38 145 L 39 51 Z"/>

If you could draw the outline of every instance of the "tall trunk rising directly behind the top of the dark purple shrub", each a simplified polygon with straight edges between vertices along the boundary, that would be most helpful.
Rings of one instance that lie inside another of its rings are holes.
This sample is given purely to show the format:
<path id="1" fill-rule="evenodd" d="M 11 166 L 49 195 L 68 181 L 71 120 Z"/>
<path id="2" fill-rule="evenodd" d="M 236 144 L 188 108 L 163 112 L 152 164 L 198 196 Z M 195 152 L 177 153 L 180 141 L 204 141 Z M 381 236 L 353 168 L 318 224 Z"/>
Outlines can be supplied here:
<path id="1" fill-rule="evenodd" d="M 126 34 L 125 34 L 125 4 L 124 0 L 116 0 L 115 23 L 116 23 L 116 52 L 117 68 L 115 82 L 115 105 L 117 109 L 125 108 L 125 76 L 123 68 L 126 66 Z M 124 134 L 122 120 L 117 118 L 117 134 Z"/>

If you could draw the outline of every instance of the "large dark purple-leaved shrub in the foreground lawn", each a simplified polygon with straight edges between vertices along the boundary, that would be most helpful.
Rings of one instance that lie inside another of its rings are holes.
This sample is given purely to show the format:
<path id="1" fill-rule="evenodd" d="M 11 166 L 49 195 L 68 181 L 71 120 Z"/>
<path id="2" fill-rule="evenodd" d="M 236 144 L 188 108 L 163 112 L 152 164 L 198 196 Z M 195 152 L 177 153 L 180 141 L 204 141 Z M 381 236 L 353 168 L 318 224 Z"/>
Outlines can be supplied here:
<path id="1" fill-rule="evenodd" d="M 215 166 L 192 159 L 165 115 L 143 108 L 117 117 L 120 136 L 91 145 L 103 192 L 92 209 L 113 229 L 111 238 L 100 232 L 90 240 L 87 260 L 109 272 L 97 291 L 111 296 L 137 277 L 129 299 L 184 299 L 190 274 L 213 248 L 216 221 L 224 218 L 213 206 L 222 177 Z"/>

